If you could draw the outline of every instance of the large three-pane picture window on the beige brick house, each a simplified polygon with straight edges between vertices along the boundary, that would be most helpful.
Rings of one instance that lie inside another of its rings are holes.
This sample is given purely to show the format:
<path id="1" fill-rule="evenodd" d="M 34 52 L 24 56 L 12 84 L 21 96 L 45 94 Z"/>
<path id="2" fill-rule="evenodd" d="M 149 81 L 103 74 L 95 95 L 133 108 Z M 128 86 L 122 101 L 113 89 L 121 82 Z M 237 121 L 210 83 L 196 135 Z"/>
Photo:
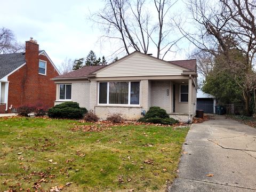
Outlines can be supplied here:
<path id="1" fill-rule="evenodd" d="M 139 105 L 140 82 L 100 82 L 99 103 Z"/>

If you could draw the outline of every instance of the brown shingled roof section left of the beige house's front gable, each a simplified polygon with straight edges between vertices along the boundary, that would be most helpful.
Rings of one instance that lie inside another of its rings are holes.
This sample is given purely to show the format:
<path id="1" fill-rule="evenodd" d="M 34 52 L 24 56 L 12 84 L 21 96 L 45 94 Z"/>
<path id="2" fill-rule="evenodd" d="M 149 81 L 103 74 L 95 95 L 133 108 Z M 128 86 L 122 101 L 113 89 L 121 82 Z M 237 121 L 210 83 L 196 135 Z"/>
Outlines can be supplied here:
<path id="1" fill-rule="evenodd" d="M 89 74 L 93 73 L 94 71 L 105 67 L 105 66 L 85 66 L 81 69 L 77 69 L 74 71 L 71 71 L 64 75 L 59 75 L 54 78 L 77 78 L 77 77 L 87 77 Z"/>

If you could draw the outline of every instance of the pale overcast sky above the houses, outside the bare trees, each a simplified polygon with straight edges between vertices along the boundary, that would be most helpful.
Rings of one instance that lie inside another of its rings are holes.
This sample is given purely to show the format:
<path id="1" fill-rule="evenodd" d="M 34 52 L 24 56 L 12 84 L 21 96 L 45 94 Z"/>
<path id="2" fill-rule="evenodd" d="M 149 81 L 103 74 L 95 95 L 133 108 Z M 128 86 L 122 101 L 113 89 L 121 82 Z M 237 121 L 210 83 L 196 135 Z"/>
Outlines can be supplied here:
<path id="1" fill-rule="evenodd" d="M 179 8 L 181 5 L 178 4 Z M 110 59 L 113 53 L 108 44 L 98 42 L 102 31 L 92 26 L 90 12 L 103 7 L 101 0 L 10 0 L 1 2 L 0 27 L 13 31 L 19 42 L 33 37 L 59 66 L 67 57 L 86 57 L 93 50 L 97 57 Z M 176 7 L 176 8 L 177 8 Z M 182 9 L 182 7 L 180 7 Z M 167 60 L 187 59 L 184 51 L 170 54 Z"/>

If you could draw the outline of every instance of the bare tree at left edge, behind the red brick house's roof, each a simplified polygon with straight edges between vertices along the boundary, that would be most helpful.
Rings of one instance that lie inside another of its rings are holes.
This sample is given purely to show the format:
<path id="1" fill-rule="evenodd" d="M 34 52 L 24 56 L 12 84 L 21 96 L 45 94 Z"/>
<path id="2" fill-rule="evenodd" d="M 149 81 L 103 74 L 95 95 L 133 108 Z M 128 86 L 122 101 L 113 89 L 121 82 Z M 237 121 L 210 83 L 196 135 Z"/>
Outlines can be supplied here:
<path id="1" fill-rule="evenodd" d="M 0 54 L 15 53 L 25 50 L 25 45 L 18 43 L 13 32 L 7 28 L 0 28 Z"/>

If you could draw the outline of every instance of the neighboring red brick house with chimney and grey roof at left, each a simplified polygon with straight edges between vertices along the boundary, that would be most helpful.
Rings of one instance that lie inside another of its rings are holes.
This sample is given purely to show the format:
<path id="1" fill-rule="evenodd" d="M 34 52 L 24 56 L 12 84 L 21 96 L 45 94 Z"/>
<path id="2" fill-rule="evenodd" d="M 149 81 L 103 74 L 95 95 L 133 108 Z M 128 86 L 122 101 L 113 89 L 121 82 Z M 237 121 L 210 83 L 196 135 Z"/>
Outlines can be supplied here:
<path id="1" fill-rule="evenodd" d="M 58 75 L 33 39 L 26 42 L 25 53 L 0 54 L 0 113 L 15 112 L 22 105 L 54 106 L 56 85 L 51 78 Z"/>

